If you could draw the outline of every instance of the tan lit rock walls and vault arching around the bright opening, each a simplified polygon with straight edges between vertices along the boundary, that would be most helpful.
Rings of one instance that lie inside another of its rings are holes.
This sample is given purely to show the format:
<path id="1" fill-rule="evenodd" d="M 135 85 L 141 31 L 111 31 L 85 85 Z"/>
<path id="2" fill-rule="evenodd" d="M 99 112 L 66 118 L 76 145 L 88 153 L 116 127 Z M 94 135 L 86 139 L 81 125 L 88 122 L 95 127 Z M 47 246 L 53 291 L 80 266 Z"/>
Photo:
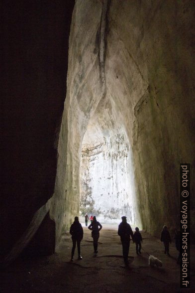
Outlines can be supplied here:
<path id="1" fill-rule="evenodd" d="M 69 210 L 65 225 L 79 212 L 87 125 L 100 140 L 110 129 L 120 133 L 119 124 L 132 148 L 143 227 L 158 235 L 164 223 L 178 223 L 179 164 L 190 162 L 194 174 L 194 8 L 191 1 L 76 2 L 56 184 Z"/>

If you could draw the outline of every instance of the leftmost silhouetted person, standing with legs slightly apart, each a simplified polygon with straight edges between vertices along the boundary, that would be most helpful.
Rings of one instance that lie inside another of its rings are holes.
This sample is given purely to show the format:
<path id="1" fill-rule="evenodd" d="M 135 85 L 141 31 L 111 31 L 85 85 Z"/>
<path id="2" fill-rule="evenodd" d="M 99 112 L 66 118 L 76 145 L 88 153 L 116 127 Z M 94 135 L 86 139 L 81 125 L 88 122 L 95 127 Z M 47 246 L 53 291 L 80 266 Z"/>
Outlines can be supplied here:
<path id="1" fill-rule="evenodd" d="M 72 248 L 72 253 L 71 253 L 71 261 L 73 262 L 76 244 L 77 244 L 77 249 L 78 249 L 78 259 L 82 260 L 80 244 L 81 244 L 81 240 L 83 239 L 83 227 L 79 223 L 79 218 L 78 217 L 75 217 L 75 221 L 71 225 L 70 234 L 72 235 L 72 241 L 73 241 L 73 248 Z"/>

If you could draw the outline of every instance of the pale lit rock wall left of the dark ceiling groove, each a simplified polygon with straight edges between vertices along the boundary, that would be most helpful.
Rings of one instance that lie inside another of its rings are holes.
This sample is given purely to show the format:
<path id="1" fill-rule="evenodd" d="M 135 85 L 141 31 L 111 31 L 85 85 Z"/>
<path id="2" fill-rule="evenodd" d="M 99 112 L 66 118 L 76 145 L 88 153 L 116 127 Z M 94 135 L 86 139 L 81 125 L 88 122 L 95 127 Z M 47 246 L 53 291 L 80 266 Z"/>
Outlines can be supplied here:
<path id="1" fill-rule="evenodd" d="M 86 5 L 88 8 L 86 9 Z M 58 144 L 56 185 L 51 215 L 56 220 L 56 244 L 79 215 L 81 146 L 90 115 L 102 97 L 98 48 L 102 3 L 78 2 L 69 39 L 67 96 Z M 87 31 L 87 33 L 86 33 Z M 90 58 L 89 58 L 90 56 Z M 92 74 L 93 73 L 93 74 Z M 96 96 L 96 99 L 94 99 Z"/>

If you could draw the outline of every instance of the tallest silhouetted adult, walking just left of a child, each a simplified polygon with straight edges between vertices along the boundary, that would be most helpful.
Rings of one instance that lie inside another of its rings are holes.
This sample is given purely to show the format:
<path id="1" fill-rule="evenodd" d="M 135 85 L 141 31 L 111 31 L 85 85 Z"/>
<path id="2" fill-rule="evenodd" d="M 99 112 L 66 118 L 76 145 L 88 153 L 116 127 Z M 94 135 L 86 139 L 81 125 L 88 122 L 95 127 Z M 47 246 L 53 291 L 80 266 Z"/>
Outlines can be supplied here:
<path id="1" fill-rule="evenodd" d="M 133 239 L 133 231 L 131 226 L 127 223 L 126 217 L 121 217 L 122 222 L 118 226 L 118 235 L 122 243 L 122 255 L 124 259 L 125 266 L 128 266 L 128 254 L 129 254 L 129 245 L 130 245 L 130 235 Z"/>

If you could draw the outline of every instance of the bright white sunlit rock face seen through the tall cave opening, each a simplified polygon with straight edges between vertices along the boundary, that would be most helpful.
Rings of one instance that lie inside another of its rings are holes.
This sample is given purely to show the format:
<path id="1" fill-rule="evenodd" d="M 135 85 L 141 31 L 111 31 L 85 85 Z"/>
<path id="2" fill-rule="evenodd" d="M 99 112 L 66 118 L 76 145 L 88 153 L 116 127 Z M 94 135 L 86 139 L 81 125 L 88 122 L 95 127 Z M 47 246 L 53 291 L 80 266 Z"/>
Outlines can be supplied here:
<path id="1" fill-rule="evenodd" d="M 120 132 L 88 128 L 82 145 L 80 212 L 96 215 L 102 223 L 118 223 L 121 216 L 135 225 L 132 151 L 124 127 Z M 139 225 L 140 226 L 140 225 Z"/>

